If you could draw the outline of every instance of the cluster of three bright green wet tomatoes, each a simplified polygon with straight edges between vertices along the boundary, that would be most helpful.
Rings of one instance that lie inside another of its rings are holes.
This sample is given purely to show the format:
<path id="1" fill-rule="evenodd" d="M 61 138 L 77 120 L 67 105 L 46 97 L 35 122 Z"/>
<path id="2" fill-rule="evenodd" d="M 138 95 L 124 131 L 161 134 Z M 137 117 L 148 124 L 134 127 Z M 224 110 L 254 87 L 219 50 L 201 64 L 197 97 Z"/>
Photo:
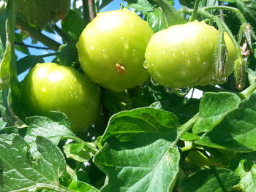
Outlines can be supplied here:
<path id="1" fill-rule="evenodd" d="M 170 88 L 207 85 L 214 76 L 218 38 L 217 29 L 198 21 L 154 34 L 135 12 L 121 9 L 99 13 L 86 26 L 77 43 L 78 58 L 90 80 L 116 92 L 145 82 L 148 72 Z M 236 54 L 227 34 L 225 42 L 229 75 Z M 74 131 L 90 126 L 99 113 L 99 91 L 86 76 L 68 66 L 37 64 L 23 81 L 26 113 L 47 116 L 50 110 L 61 111 Z"/>

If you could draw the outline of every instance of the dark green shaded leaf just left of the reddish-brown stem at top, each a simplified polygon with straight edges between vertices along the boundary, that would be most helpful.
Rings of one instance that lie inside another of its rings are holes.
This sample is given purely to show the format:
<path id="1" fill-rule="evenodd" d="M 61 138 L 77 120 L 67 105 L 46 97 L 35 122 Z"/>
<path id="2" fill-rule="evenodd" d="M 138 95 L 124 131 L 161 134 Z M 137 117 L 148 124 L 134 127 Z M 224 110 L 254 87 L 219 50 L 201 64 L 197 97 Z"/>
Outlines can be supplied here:
<path id="1" fill-rule="evenodd" d="M 84 28 L 83 19 L 80 18 L 78 13 L 70 9 L 69 13 L 61 24 L 64 33 L 69 35 L 69 37 L 71 37 L 73 40 L 77 41 Z"/>

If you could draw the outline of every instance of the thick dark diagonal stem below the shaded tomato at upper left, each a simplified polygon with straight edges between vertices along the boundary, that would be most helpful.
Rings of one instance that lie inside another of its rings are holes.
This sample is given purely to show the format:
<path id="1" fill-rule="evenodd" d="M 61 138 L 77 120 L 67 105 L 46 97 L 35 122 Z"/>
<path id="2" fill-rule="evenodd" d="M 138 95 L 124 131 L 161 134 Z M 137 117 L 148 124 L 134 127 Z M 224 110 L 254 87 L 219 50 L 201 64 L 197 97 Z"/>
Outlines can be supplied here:
<path id="1" fill-rule="evenodd" d="M 32 37 L 34 37 L 37 40 L 39 40 L 39 42 L 42 42 L 43 44 L 48 46 L 49 49 L 55 50 L 55 51 L 59 50 L 60 44 L 58 42 L 56 42 L 53 39 L 50 39 L 49 37 L 45 36 L 44 34 L 42 34 L 37 29 L 32 28 L 31 26 L 29 26 L 29 24 L 25 23 L 20 18 L 17 18 L 16 25 L 20 26 L 20 28 L 22 28 L 23 30 L 27 31 Z"/>

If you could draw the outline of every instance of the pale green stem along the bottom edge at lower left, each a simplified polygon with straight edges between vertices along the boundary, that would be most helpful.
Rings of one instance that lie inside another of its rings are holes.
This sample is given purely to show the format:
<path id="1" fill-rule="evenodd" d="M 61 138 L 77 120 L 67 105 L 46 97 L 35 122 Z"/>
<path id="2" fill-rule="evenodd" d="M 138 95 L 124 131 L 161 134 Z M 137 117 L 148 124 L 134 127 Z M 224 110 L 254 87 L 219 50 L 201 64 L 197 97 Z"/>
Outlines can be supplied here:
<path id="1" fill-rule="evenodd" d="M 40 189 L 48 189 L 50 191 L 56 191 L 56 192 L 72 192 L 69 189 L 64 188 L 62 186 L 49 185 L 45 183 L 37 183 L 36 185 L 32 185 L 27 188 L 12 190 L 12 192 L 25 192 L 25 191 L 31 191 L 31 190 L 38 191 Z"/>

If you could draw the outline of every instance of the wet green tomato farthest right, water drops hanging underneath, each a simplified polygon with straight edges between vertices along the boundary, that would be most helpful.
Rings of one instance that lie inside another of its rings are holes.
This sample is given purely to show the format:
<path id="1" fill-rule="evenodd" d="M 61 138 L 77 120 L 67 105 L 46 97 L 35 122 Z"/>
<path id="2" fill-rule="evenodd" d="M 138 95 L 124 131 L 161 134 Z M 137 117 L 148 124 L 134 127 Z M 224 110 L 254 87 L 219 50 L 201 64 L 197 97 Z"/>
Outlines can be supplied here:
<path id="1" fill-rule="evenodd" d="M 204 22 L 170 26 L 151 37 L 146 47 L 146 68 L 151 77 L 167 88 L 207 85 L 215 73 L 214 50 L 219 31 Z M 225 34 L 226 75 L 233 72 L 236 49 Z"/>

